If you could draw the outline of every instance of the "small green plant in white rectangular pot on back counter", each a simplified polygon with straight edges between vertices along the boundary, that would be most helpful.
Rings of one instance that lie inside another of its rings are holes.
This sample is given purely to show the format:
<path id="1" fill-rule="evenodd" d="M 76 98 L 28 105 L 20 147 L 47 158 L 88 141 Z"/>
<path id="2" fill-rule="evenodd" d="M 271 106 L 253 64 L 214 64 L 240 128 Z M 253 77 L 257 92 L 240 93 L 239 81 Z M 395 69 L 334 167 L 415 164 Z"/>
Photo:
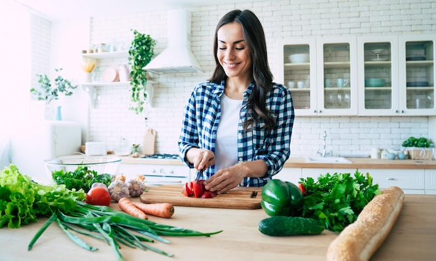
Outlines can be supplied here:
<path id="1" fill-rule="evenodd" d="M 411 136 L 401 144 L 410 159 L 433 159 L 435 144 L 424 138 Z"/>

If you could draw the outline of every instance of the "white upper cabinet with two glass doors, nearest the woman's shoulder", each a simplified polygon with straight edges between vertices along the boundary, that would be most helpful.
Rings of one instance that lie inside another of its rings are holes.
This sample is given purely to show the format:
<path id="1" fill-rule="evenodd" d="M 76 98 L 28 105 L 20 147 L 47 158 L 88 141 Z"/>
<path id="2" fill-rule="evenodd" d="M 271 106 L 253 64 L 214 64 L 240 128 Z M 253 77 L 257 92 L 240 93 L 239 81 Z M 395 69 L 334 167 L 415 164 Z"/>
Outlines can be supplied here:
<path id="1" fill-rule="evenodd" d="M 299 116 L 356 116 L 356 38 L 291 38 L 280 44 L 279 81 L 293 95 Z M 309 61 L 291 61 L 309 54 Z M 298 86 L 301 81 L 302 86 Z M 294 84 L 290 84 L 293 82 Z"/>

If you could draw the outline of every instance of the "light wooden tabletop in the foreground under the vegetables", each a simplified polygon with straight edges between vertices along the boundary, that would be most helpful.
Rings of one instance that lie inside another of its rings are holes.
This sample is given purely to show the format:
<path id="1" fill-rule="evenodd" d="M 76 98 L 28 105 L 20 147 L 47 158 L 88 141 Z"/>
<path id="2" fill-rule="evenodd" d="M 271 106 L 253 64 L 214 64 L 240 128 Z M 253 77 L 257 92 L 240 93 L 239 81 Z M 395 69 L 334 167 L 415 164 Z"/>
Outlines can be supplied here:
<path id="1" fill-rule="evenodd" d="M 116 204 L 111 207 L 118 208 Z M 258 232 L 257 224 L 266 218 L 263 209 L 212 209 L 176 207 L 171 219 L 150 216 L 150 220 L 183 226 L 203 232 L 224 230 L 211 237 L 165 237 L 171 244 L 152 245 L 173 253 L 173 258 L 152 251 L 124 246 L 125 260 L 325 260 L 327 248 L 336 237 L 325 231 L 316 236 L 268 237 Z M 86 251 L 52 224 L 31 251 L 27 245 L 46 219 L 17 229 L 0 229 L 0 260 L 116 260 L 110 246 L 89 237 L 88 244 L 99 248 Z M 406 195 L 403 210 L 389 237 L 371 260 L 435 260 L 436 196 Z"/>

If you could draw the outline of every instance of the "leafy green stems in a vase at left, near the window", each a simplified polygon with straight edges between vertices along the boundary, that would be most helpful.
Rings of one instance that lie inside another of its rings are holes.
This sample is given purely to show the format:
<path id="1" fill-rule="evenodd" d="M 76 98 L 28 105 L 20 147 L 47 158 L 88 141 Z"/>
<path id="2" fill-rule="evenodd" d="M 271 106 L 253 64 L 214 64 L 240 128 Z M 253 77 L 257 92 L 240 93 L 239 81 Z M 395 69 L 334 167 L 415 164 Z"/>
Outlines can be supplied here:
<path id="1" fill-rule="evenodd" d="M 56 72 L 61 72 L 62 68 L 55 70 Z M 54 84 L 52 84 L 47 74 L 36 74 L 36 76 L 38 76 L 39 88 L 31 88 L 30 92 L 36 95 L 38 100 L 45 101 L 45 118 L 52 120 L 50 103 L 53 100 L 58 100 L 60 94 L 65 96 L 72 95 L 72 90 L 75 90 L 77 85 L 73 85 L 71 81 L 63 78 L 61 75 L 54 79 Z"/>

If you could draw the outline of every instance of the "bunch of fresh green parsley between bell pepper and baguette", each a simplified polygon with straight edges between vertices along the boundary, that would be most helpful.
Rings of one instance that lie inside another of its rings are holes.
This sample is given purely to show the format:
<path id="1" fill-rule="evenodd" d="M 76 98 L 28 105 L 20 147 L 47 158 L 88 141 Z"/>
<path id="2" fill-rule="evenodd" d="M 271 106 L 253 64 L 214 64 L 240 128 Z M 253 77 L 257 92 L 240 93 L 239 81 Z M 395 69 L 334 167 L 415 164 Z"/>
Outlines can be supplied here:
<path id="1" fill-rule="evenodd" d="M 366 204 L 381 193 L 371 175 L 358 170 L 355 177 L 350 173 L 327 173 L 320 175 L 318 181 L 307 177 L 299 183 L 306 189 L 302 216 L 318 219 L 334 232 L 341 232 L 355 222 Z"/>

